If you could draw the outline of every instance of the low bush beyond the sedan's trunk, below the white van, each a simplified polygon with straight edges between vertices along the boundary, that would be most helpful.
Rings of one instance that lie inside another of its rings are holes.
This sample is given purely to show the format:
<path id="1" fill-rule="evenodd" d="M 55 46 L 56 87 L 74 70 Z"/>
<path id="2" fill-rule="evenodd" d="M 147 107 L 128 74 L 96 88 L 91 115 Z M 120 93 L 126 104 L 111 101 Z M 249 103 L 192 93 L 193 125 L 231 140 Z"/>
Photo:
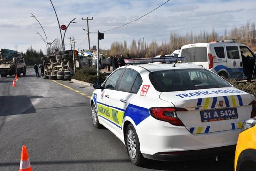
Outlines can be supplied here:
<path id="1" fill-rule="evenodd" d="M 235 88 L 253 94 L 256 97 L 256 83 L 239 83 L 233 79 L 228 79 L 227 81 L 230 84 L 232 84 Z"/>

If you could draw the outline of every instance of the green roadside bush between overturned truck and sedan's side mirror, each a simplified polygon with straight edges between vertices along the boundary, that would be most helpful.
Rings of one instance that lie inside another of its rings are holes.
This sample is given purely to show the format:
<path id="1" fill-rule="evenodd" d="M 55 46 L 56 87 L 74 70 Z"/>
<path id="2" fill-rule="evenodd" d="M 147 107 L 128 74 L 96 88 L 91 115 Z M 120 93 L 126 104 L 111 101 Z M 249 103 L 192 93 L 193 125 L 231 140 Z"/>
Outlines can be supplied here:
<path id="1" fill-rule="evenodd" d="M 93 66 L 84 69 L 79 69 L 76 71 L 76 75 L 74 75 L 72 78 L 88 83 L 96 83 L 98 81 L 97 69 Z M 106 77 L 104 76 L 104 74 L 100 72 L 99 81 L 103 83 L 105 79 Z"/>

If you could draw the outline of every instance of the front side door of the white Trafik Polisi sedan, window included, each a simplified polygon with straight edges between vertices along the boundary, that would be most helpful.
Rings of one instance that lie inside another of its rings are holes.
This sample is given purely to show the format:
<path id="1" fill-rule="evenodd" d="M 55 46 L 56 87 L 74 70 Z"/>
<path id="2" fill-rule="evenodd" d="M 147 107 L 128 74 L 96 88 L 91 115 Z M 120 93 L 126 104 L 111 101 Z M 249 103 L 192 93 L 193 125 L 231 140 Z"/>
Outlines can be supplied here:
<path id="1" fill-rule="evenodd" d="M 118 69 L 113 72 L 105 81 L 103 85 L 103 89 L 99 90 L 96 97 L 97 104 L 97 112 L 98 118 L 101 123 L 105 123 L 109 127 L 113 128 L 113 120 L 112 120 L 112 109 L 110 106 L 110 97 L 115 92 L 118 80 L 122 75 L 124 69 Z"/>

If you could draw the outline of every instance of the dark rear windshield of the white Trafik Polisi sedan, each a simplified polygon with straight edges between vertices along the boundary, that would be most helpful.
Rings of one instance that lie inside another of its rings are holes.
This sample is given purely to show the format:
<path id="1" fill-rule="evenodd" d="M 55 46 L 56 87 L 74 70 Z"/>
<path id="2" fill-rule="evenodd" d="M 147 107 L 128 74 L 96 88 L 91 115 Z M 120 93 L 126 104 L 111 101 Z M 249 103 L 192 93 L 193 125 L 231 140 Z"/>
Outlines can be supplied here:
<path id="1" fill-rule="evenodd" d="M 149 74 L 157 91 L 186 91 L 194 89 L 230 87 L 226 81 L 206 69 L 174 69 Z"/>

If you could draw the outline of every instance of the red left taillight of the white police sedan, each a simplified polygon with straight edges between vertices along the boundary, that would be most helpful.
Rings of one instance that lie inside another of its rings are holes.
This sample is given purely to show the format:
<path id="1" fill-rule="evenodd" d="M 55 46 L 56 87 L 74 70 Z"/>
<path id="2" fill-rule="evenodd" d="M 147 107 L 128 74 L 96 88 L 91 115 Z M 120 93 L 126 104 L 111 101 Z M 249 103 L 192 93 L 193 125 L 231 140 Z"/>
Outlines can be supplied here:
<path id="1" fill-rule="evenodd" d="M 169 122 L 172 125 L 184 126 L 181 120 L 177 117 L 176 111 L 186 111 L 186 109 L 174 107 L 150 108 L 150 114 L 152 117 L 161 121 Z"/>

